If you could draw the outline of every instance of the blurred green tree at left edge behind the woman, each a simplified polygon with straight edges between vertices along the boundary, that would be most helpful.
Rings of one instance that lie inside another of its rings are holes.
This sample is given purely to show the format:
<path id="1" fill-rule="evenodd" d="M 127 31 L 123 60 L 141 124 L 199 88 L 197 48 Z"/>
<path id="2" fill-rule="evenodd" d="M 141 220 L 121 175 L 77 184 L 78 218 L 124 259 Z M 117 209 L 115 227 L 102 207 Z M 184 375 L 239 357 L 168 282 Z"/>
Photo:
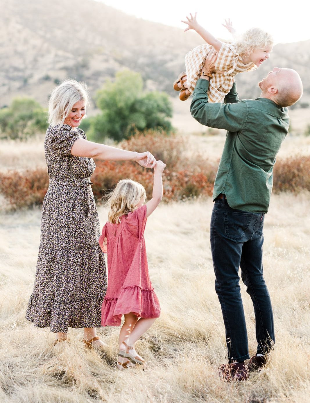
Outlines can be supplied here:
<path id="1" fill-rule="evenodd" d="M 32 98 L 15 98 L 9 108 L 0 110 L 2 137 L 25 139 L 46 131 L 46 111 Z"/>

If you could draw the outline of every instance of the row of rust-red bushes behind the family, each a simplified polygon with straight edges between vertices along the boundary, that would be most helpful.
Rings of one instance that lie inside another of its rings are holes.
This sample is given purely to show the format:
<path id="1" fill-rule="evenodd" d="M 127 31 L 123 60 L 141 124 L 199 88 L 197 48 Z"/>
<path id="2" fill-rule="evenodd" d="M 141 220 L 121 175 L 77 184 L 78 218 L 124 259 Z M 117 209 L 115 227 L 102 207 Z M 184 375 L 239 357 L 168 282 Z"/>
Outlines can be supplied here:
<path id="1" fill-rule="evenodd" d="M 184 157 L 185 143 L 180 137 L 167 137 L 163 132 L 147 132 L 120 144 L 127 150 L 152 150 L 156 159 L 163 160 L 167 167 L 163 174 L 165 202 L 191 197 L 210 196 L 217 163 L 209 163 L 202 157 L 192 160 Z M 275 165 L 273 191 L 298 193 L 310 190 L 310 157 L 296 157 L 278 161 Z M 102 200 L 120 179 L 131 178 L 146 189 L 148 198 L 152 197 L 153 171 L 135 162 L 96 161 L 96 170 L 91 177 L 92 189 L 98 201 Z M 48 188 L 47 170 L 37 168 L 24 172 L 0 172 L 0 191 L 12 208 L 40 205 Z"/>

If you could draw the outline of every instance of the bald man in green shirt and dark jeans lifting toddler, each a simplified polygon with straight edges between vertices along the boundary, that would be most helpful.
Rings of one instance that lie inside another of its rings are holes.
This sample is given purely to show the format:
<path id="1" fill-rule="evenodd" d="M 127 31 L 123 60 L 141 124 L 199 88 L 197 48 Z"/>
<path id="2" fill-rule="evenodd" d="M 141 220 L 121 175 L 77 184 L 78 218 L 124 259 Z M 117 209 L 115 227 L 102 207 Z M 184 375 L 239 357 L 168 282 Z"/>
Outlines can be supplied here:
<path id="1" fill-rule="evenodd" d="M 216 52 L 210 52 L 193 92 L 190 111 L 203 125 L 227 130 L 214 182 L 210 230 L 215 289 L 221 303 L 229 358 L 228 364 L 220 366 L 220 374 L 227 381 L 246 380 L 248 370 L 264 366 L 275 343 L 273 312 L 263 278 L 262 230 L 273 186 L 275 157 L 289 128 L 285 107 L 297 102 L 303 89 L 296 71 L 275 67 L 258 83 L 260 98 L 239 101 L 234 83 L 225 104 L 208 103 L 215 60 Z M 251 359 L 239 267 L 254 305 L 258 347 Z M 250 359 L 249 366 L 244 363 L 246 359 Z"/>

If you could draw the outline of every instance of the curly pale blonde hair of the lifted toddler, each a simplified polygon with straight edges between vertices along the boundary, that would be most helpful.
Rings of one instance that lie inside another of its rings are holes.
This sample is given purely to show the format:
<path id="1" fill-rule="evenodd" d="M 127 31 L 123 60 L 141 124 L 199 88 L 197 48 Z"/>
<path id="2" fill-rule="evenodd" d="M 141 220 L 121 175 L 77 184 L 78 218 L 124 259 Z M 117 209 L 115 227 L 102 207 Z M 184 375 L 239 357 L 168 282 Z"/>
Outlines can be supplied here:
<path id="1" fill-rule="evenodd" d="M 254 49 L 264 49 L 273 46 L 273 37 L 260 28 L 250 28 L 235 39 L 235 46 L 240 55 L 250 54 Z"/>

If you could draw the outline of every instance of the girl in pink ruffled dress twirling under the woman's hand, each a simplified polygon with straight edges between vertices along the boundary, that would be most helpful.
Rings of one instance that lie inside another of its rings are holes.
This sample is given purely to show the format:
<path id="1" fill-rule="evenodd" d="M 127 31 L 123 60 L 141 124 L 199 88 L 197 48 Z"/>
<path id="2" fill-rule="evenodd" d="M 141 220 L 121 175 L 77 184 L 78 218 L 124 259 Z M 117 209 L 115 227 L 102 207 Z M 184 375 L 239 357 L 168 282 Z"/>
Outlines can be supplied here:
<path id="1" fill-rule="evenodd" d="M 160 316 L 160 305 L 148 273 L 144 242 L 147 217 L 162 199 L 162 172 L 166 164 L 157 161 L 154 168 L 153 196 L 144 204 L 142 185 L 123 179 L 109 197 L 108 222 L 99 244 L 108 253 L 108 287 L 102 303 L 102 326 L 120 326 L 117 367 L 143 364 L 134 343 Z M 139 319 L 140 318 L 140 319 Z"/>

